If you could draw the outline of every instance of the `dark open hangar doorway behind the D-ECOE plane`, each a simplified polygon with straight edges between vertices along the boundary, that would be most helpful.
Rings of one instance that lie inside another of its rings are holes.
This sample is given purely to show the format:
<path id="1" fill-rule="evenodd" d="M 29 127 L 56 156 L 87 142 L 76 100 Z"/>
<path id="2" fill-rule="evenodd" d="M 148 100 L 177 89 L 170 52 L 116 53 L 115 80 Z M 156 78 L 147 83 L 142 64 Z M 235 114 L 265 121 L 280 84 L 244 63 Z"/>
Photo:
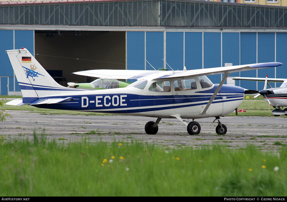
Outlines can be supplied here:
<path id="1" fill-rule="evenodd" d="M 36 31 L 35 58 L 61 85 L 96 78 L 71 75 L 91 69 L 125 69 L 125 31 Z"/>

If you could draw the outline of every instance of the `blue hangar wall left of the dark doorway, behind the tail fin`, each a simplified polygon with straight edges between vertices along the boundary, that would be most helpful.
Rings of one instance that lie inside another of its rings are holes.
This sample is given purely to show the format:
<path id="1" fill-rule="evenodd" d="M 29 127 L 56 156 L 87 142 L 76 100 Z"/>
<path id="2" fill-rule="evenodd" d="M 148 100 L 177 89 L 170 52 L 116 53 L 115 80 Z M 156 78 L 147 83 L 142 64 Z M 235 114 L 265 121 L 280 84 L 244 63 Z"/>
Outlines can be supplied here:
<path id="1" fill-rule="evenodd" d="M 13 36 L 15 34 L 15 37 Z M 9 91 L 20 91 L 17 80 L 14 83 L 14 73 L 7 56 L 6 50 L 27 48 L 30 53 L 34 54 L 34 31 L 27 30 L 0 30 L 0 76 L 1 76 L 1 95 L 8 94 L 8 81 Z M 15 41 L 14 41 L 15 39 Z M 9 77 L 9 80 L 8 80 Z"/>

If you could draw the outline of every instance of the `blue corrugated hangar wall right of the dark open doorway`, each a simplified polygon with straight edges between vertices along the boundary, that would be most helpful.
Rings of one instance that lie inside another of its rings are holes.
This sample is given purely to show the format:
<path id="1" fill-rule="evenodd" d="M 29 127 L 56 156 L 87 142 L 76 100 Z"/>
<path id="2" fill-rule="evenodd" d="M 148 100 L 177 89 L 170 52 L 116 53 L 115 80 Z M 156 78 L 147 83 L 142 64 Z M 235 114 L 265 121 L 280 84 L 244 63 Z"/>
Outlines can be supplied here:
<path id="1" fill-rule="evenodd" d="M 132 34 L 133 33 L 133 34 Z M 203 35 L 203 37 L 202 37 Z M 129 37 L 131 36 L 131 37 Z M 133 37 L 139 37 L 137 39 Z M 221 38 L 222 37 L 222 38 Z M 202 40 L 203 39 L 203 40 Z M 144 51 L 137 50 L 140 55 L 129 58 L 129 52 L 133 52 L 132 41 L 141 41 L 138 47 L 144 50 L 144 32 L 127 32 L 127 69 L 134 60 L 142 61 Z M 136 44 L 139 43 L 136 42 Z M 224 66 L 224 63 L 232 65 L 244 65 L 261 62 L 282 62 L 283 65 L 276 68 L 243 71 L 232 73 L 230 77 L 276 77 L 286 78 L 287 69 L 287 33 L 257 33 L 257 32 L 166 32 L 166 61 L 174 69 L 201 69 Z M 203 50 L 202 50 L 203 47 Z M 146 32 L 146 59 L 152 61 L 152 65 L 161 67 L 159 62 L 164 57 L 164 32 Z M 184 56 L 184 57 L 183 57 Z M 147 64 L 148 66 L 148 64 Z M 167 66 L 168 68 L 168 66 Z M 144 69 L 139 67 L 139 69 Z M 275 75 L 276 71 L 276 75 Z M 221 75 L 208 76 L 214 83 L 219 83 Z M 246 89 L 263 88 L 263 83 L 254 81 L 236 81 Z M 274 84 L 273 84 L 274 85 Z M 277 84 L 277 87 L 280 84 Z"/>

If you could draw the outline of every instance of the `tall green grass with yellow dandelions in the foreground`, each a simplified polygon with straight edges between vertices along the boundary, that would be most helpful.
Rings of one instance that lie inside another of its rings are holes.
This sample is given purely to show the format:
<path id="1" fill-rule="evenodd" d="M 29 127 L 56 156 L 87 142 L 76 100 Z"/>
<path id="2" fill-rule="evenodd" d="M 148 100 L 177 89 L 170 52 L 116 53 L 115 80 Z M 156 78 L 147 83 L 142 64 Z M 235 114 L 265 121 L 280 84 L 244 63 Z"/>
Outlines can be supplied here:
<path id="1" fill-rule="evenodd" d="M 286 196 L 287 150 L 140 142 L 0 143 L 1 196 Z M 2 137 L 3 140 L 3 137 Z M 279 168 L 279 169 L 278 169 Z"/>

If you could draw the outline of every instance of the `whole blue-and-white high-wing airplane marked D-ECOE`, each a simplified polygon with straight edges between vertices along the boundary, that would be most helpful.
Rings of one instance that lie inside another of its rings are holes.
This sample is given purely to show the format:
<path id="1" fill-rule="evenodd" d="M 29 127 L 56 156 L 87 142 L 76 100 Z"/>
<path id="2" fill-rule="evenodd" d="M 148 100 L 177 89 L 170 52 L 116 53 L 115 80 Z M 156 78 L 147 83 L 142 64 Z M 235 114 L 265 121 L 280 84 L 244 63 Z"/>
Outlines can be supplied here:
<path id="1" fill-rule="evenodd" d="M 194 119 L 206 117 L 215 117 L 214 122 L 218 123 L 216 133 L 226 134 L 227 127 L 219 121 L 220 116 L 228 115 L 239 107 L 245 93 L 252 94 L 241 87 L 223 85 L 228 75 L 282 65 L 271 62 L 194 70 L 184 68 L 183 71 L 88 70 L 74 73 L 104 79 L 137 79 L 125 88 L 86 91 L 56 83 L 27 49 L 6 52 L 23 94 L 23 99 L 6 104 L 157 118 L 155 122 L 146 123 L 147 134 L 158 132 L 158 123 L 162 118 L 176 118 L 187 126 L 190 135 L 199 134 L 201 126 Z M 24 68 L 29 69 L 29 64 L 22 62 L 23 57 L 31 58 L 32 64 L 37 67 L 38 77 L 26 74 Z M 224 74 L 220 84 L 213 84 L 206 77 L 214 74 Z M 183 119 L 192 121 L 187 124 Z"/>

